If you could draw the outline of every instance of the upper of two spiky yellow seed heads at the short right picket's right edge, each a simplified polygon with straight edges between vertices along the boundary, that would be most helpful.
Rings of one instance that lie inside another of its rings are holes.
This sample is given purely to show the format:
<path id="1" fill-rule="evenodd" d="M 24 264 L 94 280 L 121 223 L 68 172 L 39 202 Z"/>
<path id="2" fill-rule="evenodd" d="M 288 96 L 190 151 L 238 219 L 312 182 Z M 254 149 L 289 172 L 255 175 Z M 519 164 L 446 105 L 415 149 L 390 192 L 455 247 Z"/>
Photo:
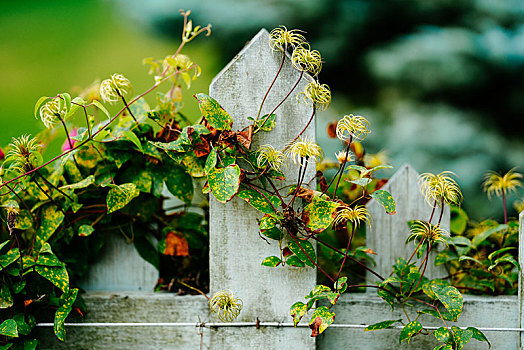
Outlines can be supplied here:
<path id="1" fill-rule="evenodd" d="M 451 175 L 455 174 L 451 171 L 443 171 L 436 175 L 431 173 L 420 175 L 420 191 L 430 206 L 441 206 L 442 203 L 459 205 L 462 202 L 460 187 Z"/>

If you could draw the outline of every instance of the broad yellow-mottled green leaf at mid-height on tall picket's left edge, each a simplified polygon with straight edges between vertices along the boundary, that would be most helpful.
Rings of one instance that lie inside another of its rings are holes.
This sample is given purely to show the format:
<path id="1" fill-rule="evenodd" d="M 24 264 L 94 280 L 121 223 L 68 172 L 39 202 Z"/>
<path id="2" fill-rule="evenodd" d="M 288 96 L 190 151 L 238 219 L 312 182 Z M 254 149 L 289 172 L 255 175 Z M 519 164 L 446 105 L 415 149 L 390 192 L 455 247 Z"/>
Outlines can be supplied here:
<path id="1" fill-rule="evenodd" d="M 219 202 L 226 203 L 238 192 L 240 168 L 233 164 L 225 168 L 215 169 L 207 175 L 207 181 L 215 198 Z"/>

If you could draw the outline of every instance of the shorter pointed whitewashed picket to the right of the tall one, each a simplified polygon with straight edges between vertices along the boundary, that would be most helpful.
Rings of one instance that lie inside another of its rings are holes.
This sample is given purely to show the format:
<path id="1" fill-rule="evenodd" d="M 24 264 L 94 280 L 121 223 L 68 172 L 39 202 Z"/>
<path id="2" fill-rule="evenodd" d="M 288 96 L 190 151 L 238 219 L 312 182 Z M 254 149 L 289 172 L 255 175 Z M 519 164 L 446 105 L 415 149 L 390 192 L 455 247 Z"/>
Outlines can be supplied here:
<path id="1" fill-rule="evenodd" d="M 391 273 L 391 266 L 397 258 L 408 259 L 415 246 L 413 243 L 406 244 L 409 237 L 409 220 L 429 220 L 432 208 L 426 202 L 419 190 L 419 174 L 409 164 L 404 164 L 389 179 L 383 187 L 389 191 L 395 199 L 397 213 L 388 215 L 384 208 L 374 199 L 367 204 L 371 214 L 371 228 L 366 234 L 366 245 L 373 249 L 377 255 L 373 258 L 377 263 L 373 267 L 381 275 L 388 276 Z M 436 224 L 440 215 L 440 208 L 436 208 L 431 222 Z M 449 207 L 444 206 L 441 227 L 449 232 L 450 213 Z M 438 248 L 437 248 L 438 249 Z M 429 278 L 445 277 L 447 272 L 443 266 L 435 267 L 433 261 L 437 252 L 430 254 L 430 264 L 427 266 L 426 276 Z M 423 259 L 422 256 L 420 259 Z M 368 278 L 375 280 L 374 276 L 368 273 Z"/>

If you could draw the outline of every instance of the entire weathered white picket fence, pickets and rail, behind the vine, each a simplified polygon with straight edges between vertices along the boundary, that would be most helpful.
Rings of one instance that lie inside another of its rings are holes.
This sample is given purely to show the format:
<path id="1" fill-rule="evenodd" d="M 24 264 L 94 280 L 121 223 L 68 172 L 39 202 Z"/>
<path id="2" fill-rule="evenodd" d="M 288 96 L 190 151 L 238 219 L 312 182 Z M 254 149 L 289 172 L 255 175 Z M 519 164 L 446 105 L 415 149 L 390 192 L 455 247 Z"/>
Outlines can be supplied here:
<path id="1" fill-rule="evenodd" d="M 229 63 L 210 86 L 210 95 L 231 113 L 235 129 L 248 125 L 248 116 L 256 115 L 261 97 L 275 76 L 280 54 L 268 45 L 269 34 L 261 30 Z M 298 73 L 286 60 L 282 73 L 269 94 L 265 113 L 278 103 L 298 79 Z M 306 84 L 305 78 L 296 91 Z M 279 109 L 277 127 L 265 133 L 259 144 L 283 147 L 305 125 L 311 107 L 299 104 L 293 94 Z M 315 134 L 314 124 L 307 134 Z M 258 135 L 257 135 L 258 136 Z M 262 135 L 261 135 L 262 136 Z M 254 145 L 255 147 L 257 145 Z M 288 172 L 293 174 L 292 167 Z M 296 172 L 295 172 L 296 173 Z M 311 176 L 314 170 L 311 170 Z M 417 172 L 409 165 L 397 171 L 387 184 L 397 202 L 397 214 L 386 215 L 370 202 L 374 219 L 367 235 L 367 245 L 378 252 L 377 269 L 386 273 L 398 256 L 406 256 L 404 245 L 406 221 L 428 217 L 429 206 L 418 191 Z M 52 324 L 39 324 L 44 348 L 52 349 L 431 349 L 432 336 L 417 337 L 412 343 L 398 345 L 399 329 L 363 332 L 365 325 L 385 319 L 401 318 L 398 310 L 374 293 L 345 294 L 335 306 L 336 319 L 317 339 L 311 338 L 307 322 L 292 327 L 289 306 L 304 296 L 316 283 L 311 268 L 267 268 L 261 261 L 278 251 L 259 238 L 256 218 L 259 213 L 244 201 L 234 199 L 221 204 L 211 199 L 210 212 L 210 285 L 211 293 L 233 290 L 244 302 L 244 309 L 234 323 L 217 323 L 203 296 L 175 296 L 153 293 L 157 272 L 134 252 L 114 240 L 85 281 L 84 299 L 88 314 L 80 319 L 72 315 L 66 323 L 67 340 L 54 338 Z M 524 233 L 524 213 L 520 215 L 520 235 Z M 449 209 L 443 215 L 449 227 Z M 278 255 L 278 254 L 276 254 Z M 524 248 L 519 251 L 524 261 Z M 389 273 L 389 271 L 387 272 Z M 429 273 L 440 277 L 442 271 Z M 371 278 L 371 276 L 369 276 Z M 520 348 L 524 327 L 522 283 L 518 296 L 465 296 L 459 326 L 484 330 L 497 350 Z M 439 320 L 422 316 L 424 325 L 438 327 Z M 486 349 L 485 343 L 472 340 L 466 349 Z"/>

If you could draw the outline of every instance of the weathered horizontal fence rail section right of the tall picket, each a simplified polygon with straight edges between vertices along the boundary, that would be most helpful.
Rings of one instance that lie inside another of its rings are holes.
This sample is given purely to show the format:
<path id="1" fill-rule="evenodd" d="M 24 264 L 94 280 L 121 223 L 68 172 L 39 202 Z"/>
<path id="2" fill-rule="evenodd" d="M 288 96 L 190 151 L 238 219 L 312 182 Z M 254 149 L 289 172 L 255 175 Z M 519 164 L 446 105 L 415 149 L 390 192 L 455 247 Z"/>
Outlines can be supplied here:
<path id="1" fill-rule="evenodd" d="M 478 297 L 464 296 L 464 311 L 459 322 L 448 322 L 449 326 L 464 327 L 501 327 L 518 328 L 519 310 L 516 296 Z M 339 324 L 373 324 L 384 320 L 402 318 L 402 310 L 391 308 L 380 298 L 369 294 L 344 295 L 335 305 L 336 319 Z M 416 317 L 415 312 L 408 309 L 410 317 Z M 423 315 L 419 321 L 424 326 L 441 327 L 442 321 L 428 315 Z M 317 340 L 317 349 L 348 349 L 348 350 L 395 350 L 395 349 L 433 349 L 437 345 L 432 335 L 415 337 L 410 344 L 399 344 L 400 329 L 386 329 L 374 332 L 364 332 L 363 329 L 328 328 Z M 485 332 L 495 350 L 518 350 L 518 332 Z M 464 348 L 466 350 L 487 350 L 485 342 L 472 339 Z"/>

